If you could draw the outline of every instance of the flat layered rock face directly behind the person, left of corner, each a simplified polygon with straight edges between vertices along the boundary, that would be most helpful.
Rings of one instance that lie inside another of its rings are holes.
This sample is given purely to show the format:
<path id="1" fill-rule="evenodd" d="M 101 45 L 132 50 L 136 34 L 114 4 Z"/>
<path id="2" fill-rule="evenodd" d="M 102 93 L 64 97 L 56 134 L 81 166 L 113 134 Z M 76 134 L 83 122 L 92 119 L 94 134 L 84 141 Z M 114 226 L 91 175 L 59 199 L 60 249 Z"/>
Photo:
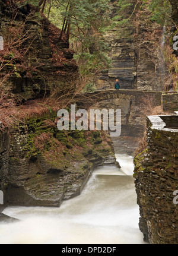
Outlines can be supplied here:
<path id="1" fill-rule="evenodd" d="M 117 1 L 111 1 L 110 8 L 110 17 L 113 18 L 117 15 Z M 132 7 L 126 15 L 131 13 Z M 127 26 L 120 24 L 104 34 L 104 40 L 109 46 L 108 55 L 112 60 L 112 67 L 101 72 L 98 80 L 101 87 L 113 89 L 116 78 L 119 78 L 120 89 L 135 89 L 136 54 L 133 48 L 133 34 L 135 34 L 134 27 L 129 26 L 128 29 Z"/>

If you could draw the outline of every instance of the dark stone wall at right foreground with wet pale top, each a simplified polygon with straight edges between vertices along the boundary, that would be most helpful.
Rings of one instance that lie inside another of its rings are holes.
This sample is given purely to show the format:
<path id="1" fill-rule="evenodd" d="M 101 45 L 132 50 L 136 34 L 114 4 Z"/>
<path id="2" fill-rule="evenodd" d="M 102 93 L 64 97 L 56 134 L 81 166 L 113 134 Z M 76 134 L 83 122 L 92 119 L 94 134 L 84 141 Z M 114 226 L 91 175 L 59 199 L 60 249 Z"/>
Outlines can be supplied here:
<path id="1" fill-rule="evenodd" d="M 177 117 L 148 117 L 148 148 L 134 160 L 139 228 L 151 244 L 178 242 Z"/>

